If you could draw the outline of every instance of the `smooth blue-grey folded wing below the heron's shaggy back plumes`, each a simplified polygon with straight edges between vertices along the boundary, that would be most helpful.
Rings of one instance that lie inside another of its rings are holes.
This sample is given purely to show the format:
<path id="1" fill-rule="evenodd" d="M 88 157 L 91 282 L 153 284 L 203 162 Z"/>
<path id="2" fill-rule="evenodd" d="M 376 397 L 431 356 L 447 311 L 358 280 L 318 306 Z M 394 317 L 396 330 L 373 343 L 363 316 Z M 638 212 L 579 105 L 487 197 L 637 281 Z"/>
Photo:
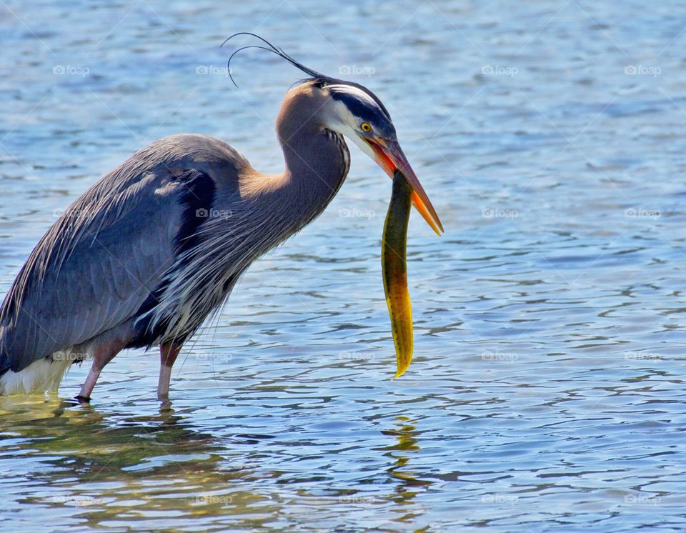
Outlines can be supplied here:
<path id="1" fill-rule="evenodd" d="M 126 199 L 129 209 L 77 201 L 41 239 L 8 295 L 14 313 L 4 321 L 3 344 L 11 369 L 124 322 L 156 287 L 180 216 L 173 195 L 156 197 L 160 178 L 144 178 L 145 187 Z M 111 199 L 125 195 L 114 191 Z M 74 224 L 74 216 L 84 221 Z"/>

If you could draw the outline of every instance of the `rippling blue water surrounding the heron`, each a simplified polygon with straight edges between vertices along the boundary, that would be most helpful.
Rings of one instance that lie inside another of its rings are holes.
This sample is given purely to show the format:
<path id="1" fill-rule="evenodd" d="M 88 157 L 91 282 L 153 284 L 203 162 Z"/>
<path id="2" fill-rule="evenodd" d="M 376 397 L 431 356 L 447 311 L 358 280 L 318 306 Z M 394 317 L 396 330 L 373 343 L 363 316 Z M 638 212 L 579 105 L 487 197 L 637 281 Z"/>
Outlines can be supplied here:
<path id="1" fill-rule="evenodd" d="M 413 216 L 416 355 L 392 381 L 390 182 L 353 148 L 326 213 L 187 347 L 172 412 L 138 350 L 91 407 L 64 402 L 86 367 L 0 399 L 0 529 L 683 530 L 685 23 L 577 0 L 0 3 L 0 294 L 149 141 L 204 132 L 281 168 L 298 73 L 248 52 L 234 89 L 234 31 L 376 91 L 447 230 Z"/>

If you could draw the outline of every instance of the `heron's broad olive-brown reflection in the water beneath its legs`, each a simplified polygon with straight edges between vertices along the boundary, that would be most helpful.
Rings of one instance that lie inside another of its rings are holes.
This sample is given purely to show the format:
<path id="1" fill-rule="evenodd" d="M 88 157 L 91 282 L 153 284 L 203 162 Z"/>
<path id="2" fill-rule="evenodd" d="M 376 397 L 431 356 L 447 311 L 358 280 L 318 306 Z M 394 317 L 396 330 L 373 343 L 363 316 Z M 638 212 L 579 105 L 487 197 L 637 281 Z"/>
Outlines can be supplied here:
<path id="1" fill-rule="evenodd" d="M 135 523 L 151 512 L 216 516 L 259 501 L 242 487 L 257 464 L 235 460 L 168 410 L 111 415 L 54 398 L 0 398 L 0 434 L 2 455 L 21 451 L 17 501 L 75 509 L 73 524 Z"/>

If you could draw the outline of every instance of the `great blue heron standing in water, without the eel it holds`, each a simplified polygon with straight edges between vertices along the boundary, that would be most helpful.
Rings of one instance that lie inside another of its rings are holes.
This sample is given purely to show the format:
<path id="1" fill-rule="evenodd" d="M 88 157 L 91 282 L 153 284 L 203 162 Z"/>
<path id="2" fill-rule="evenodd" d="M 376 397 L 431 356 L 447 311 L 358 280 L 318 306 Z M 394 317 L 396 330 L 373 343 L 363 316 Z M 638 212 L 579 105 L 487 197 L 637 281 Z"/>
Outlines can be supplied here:
<path id="1" fill-rule="evenodd" d="M 389 176 L 402 171 L 414 205 L 442 230 L 377 96 L 253 36 L 309 76 L 287 92 L 277 116 L 284 172 L 262 174 L 224 141 L 180 134 L 91 186 L 39 241 L 4 299 L 0 394 L 54 390 L 70 364 L 92 357 L 76 397 L 88 401 L 122 349 L 159 345 L 157 394 L 168 398 L 184 342 L 252 261 L 337 193 L 349 168 L 343 136 Z"/>

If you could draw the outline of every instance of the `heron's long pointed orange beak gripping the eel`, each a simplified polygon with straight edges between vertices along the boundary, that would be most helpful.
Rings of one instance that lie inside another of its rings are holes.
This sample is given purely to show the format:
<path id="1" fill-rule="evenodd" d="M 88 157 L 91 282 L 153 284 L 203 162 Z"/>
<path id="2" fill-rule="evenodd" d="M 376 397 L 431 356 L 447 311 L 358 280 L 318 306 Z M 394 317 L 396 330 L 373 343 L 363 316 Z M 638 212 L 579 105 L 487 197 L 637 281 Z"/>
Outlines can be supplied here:
<path id="1" fill-rule="evenodd" d="M 441 224 L 436 209 L 432 206 L 429 196 L 427 196 L 426 191 L 424 191 L 422 184 L 419 183 L 417 174 L 414 174 L 412 166 L 409 165 L 409 161 L 407 161 L 407 157 L 403 154 L 397 141 L 385 141 L 380 138 L 368 139 L 366 137 L 364 138 L 364 141 L 367 141 L 367 144 L 372 147 L 374 155 L 376 156 L 374 160 L 384 169 L 384 172 L 388 174 L 389 178 L 393 179 L 395 171 L 397 170 L 402 172 L 405 179 L 407 179 L 407 182 L 412 186 L 412 204 L 415 209 L 419 211 L 419 214 L 422 215 L 424 220 L 427 221 L 427 224 L 431 226 L 431 229 L 440 236 L 444 231 L 443 224 Z"/>

